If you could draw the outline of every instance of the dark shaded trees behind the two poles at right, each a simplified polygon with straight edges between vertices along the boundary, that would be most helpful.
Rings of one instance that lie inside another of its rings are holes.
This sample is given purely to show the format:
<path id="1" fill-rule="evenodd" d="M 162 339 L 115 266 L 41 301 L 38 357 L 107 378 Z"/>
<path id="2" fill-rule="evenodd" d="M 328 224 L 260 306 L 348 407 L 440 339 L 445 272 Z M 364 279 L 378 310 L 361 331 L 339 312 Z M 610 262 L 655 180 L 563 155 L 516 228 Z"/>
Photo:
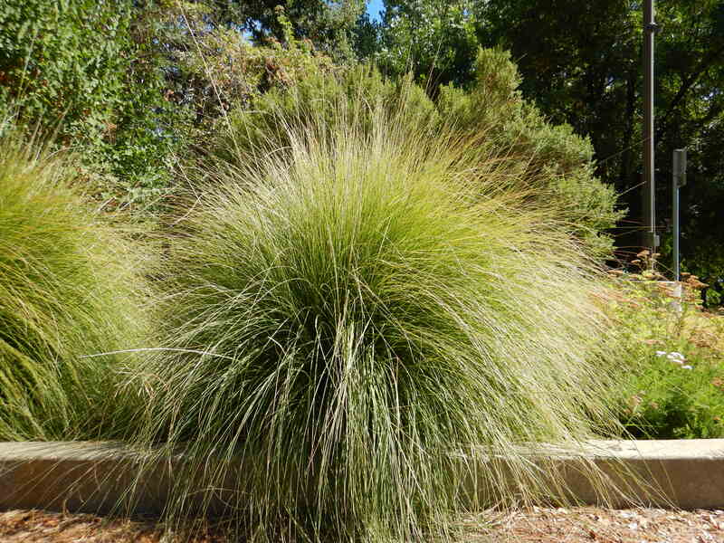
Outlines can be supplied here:
<path id="1" fill-rule="evenodd" d="M 481 43 L 510 49 L 523 95 L 554 122 L 591 138 L 597 175 L 625 195 L 631 211 L 625 225 L 640 224 L 642 3 L 491 0 L 478 8 Z M 713 282 L 724 277 L 724 5 L 657 2 L 656 22 L 662 30 L 655 38 L 654 104 L 659 228 L 665 234 L 671 217 L 672 149 L 688 148 L 681 254 L 691 272 Z M 637 229 L 627 231 L 620 244 L 637 246 Z"/>

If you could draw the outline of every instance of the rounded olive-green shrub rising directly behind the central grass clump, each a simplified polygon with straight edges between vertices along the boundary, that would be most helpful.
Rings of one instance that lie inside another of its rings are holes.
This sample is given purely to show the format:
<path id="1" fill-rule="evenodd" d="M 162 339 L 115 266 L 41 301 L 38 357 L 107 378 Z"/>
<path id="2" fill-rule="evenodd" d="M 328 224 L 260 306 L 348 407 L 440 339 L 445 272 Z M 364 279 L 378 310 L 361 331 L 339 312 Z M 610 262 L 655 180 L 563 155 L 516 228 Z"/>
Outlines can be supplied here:
<path id="1" fill-rule="evenodd" d="M 536 197 L 557 203 L 559 216 L 596 256 L 612 249 L 604 234 L 623 212 L 615 210 L 611 187 L 595 178 L 590 143 L 570 127 L 552 126 L 519 95 L 519 74 L 510 55 L 481 50 L 471 90 L 445 86 L 433 102 L 411 76 L 402 81 L 383 78 L 374 68 L 319 71 L 290 88 L 270 90 L 253 101 L 251 109 L 234 110 L 228 130 L 221 130 L 214 158 L 233 165 L 290 147 L 288 126 L 318 132 L 338 122 L 340 103 L 382 104 L 388 112 L 404 111 L 403 131 L 445 130 L 455 134 L 450 145 L 465 148 L 470 167 L 491 161 L 510 171 L 517 190 L 531 189 Z M 331 107 L 330 107 L 331 106 Z M 355 110 L 367 133 L 373 131 L 369 110 Z M 348 122 L 349 119 L 342 119 Z"/>

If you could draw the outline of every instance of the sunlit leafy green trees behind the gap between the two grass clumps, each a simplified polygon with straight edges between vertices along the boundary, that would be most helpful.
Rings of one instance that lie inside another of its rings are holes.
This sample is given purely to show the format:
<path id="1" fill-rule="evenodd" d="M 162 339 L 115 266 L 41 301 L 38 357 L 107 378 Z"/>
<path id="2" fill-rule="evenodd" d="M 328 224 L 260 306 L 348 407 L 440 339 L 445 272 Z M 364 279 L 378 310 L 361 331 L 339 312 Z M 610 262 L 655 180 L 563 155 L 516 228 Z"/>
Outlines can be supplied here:
<path id="1" fill-rule="evenodd" d="M 203 140 L 232 103 L 248 106 L 314 69 L 324 55 L 298 35 L 348 56 L 351 6 L 316 0 L 291 18 L 281 8 L 267 17 L 262 3 L 8 0 L 0 115 L 81 154 L 88 191 L 106 205 L 150 210 L 172 184 L 172 156 Z M 322 32 L 333 27 L 339 33 Z"/>

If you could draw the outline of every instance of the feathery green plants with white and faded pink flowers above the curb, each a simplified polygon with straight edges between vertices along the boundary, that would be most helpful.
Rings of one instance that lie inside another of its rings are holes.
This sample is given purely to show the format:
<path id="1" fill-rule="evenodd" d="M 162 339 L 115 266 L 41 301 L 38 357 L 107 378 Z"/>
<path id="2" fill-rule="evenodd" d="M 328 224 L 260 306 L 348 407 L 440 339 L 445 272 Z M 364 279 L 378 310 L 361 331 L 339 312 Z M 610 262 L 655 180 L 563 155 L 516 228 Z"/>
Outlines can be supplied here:
<path id="1" fill-rule="evenodd" d="M 617 280 L 612 305 L 624 348 L 613 400 L 619 417 L 635 437 L 724 437 L 724 317 L 697 308 L 695 277 L 683 283 L 681 301 L 672 298 L 670 283 L 656 279 Z"/>

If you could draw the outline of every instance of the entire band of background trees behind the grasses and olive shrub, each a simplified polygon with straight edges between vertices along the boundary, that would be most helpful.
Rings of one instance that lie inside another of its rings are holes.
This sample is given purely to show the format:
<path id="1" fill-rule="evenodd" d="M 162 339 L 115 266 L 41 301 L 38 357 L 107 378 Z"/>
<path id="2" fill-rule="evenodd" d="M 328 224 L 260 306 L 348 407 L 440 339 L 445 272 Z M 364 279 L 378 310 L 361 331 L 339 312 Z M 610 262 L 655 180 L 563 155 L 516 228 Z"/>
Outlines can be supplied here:
<path id="1" fill-rule="evenodd" d="M 656 5 L 664 264 L 671 152 L 687 147 L 683 265 L 714 280 L 724 277 L 724 2 Z M 412 71 L 439 101 L 446 85 L 474 90 L 479 47 L 500 46 L 518 63 L 523 99 L 590 138 L 595 175 L 630 209 L 617 244 L 624 257 L 636 252 L 640 3 L 388 0 L 379 23 L 363 9 L 362 0 L 9 0 L 0 6 L 0 104 L 26 124 L 55 129 L 61 145 L 83 148 L 99 186 L 129 203 L 160 195 L 170 183 L 167 157 L 206 139 L 226 111 L 330 69 L 329 59 L 369 60 L 391 79 Z"/>

